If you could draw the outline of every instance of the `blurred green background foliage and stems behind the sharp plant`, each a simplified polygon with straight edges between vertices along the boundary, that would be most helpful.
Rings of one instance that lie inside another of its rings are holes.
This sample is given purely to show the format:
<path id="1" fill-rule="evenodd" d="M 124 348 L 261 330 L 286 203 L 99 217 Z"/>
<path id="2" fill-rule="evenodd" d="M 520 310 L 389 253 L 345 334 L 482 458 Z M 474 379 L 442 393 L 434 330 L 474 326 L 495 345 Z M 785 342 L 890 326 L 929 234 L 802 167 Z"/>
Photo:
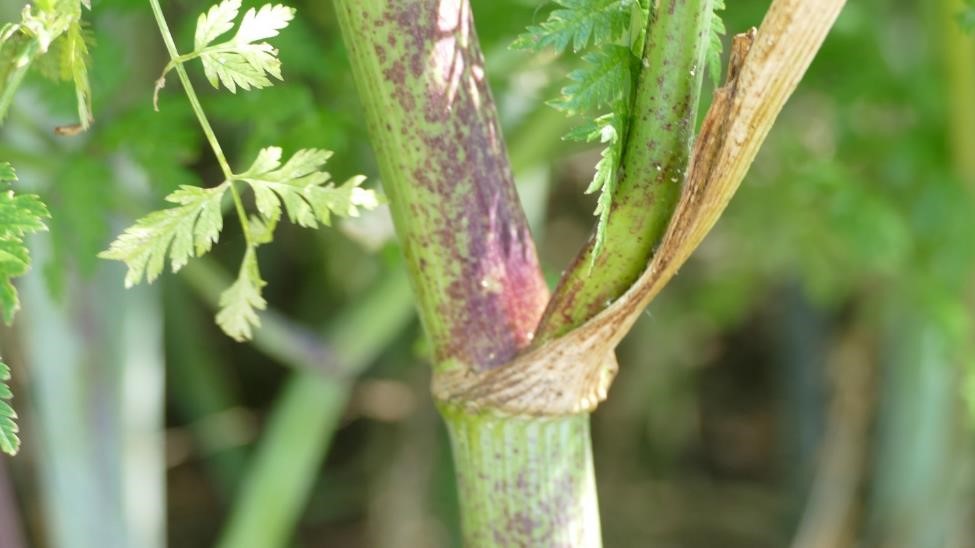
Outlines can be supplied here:
<path id="1" fill-rule="evenodd" d="M 151 288 L 122 290 L 95 258 L 219 170 L 175 80 L 152 110 L 166 57 L 148 5 L 92 4 L 92 129 L 55 136 L 73 93 L 35 75 L 0 134 L 0 159 L 54 215 L 0 336 L 24 440 L 0 461 L 0 546 L 459 545 L 425 343 L 381 215 L 279 229 L 253 344 L 211 320 L 243 246 L 233 224 L 212 258 Z M 508 49 L 550 4 L 472 4 L 554 280 L 594 221 L 598 151 L 562 142 L 569 122 L 544 104 L 572 60 Z M 729 3 L 727 27 L 768 4 Z M 332 6 L 293 5 L 285 83 L 218 94 L 191 67 L 204 107 L 236 168 L 268 144 L 323 147 L 337 178 L 375 183 Z M 851 2 L 724 219 L 619 349 L 593 418 L 607 546 L 975 546 L 964 5 Z M 206 7 L 165 3 L 182 47 Z M 4 2 L 0 20 L 20 8 Z"/>

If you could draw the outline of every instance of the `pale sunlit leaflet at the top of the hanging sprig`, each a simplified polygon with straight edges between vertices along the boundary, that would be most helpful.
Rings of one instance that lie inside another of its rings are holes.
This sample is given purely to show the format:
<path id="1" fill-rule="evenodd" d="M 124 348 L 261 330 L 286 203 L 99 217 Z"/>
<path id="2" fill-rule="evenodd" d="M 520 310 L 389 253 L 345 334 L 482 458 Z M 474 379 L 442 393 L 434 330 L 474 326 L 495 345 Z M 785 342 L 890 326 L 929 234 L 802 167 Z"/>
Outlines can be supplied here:
<path id="1" fill-rule="evenodd" d="M 197 20 L 194 54 L 203 62 L 203 72 L 215 88 L 221 85 L 231 93 L 237 88 L 260 89 L 271 85 L 270 77 L 281 80 L 281 61 L 267 38 L 278 35 L 294 18 L 295 10 L 283 5 L 265 4 L 247 10 L 237 33 L 225 42 L 213 44 L 233 28 L 240 11 L 240 0 L 224 0 L 200 15 Z"/>

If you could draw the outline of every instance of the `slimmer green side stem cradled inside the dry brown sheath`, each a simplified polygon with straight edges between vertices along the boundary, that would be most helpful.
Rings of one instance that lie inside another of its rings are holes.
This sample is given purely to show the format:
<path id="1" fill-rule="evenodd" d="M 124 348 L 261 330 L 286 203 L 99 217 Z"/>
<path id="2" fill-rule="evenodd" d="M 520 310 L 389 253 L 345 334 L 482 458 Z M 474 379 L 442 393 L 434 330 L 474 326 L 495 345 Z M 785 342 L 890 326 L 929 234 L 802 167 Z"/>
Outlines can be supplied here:
<path id="1" fill-rule="evenodd" d="M 651 14 L 606 240 L 590 238 L 563 274 L 535 342 L 563 335 L 630 287 L 680 196 L 705 72 L 712 0 L 661 0 Z"/>

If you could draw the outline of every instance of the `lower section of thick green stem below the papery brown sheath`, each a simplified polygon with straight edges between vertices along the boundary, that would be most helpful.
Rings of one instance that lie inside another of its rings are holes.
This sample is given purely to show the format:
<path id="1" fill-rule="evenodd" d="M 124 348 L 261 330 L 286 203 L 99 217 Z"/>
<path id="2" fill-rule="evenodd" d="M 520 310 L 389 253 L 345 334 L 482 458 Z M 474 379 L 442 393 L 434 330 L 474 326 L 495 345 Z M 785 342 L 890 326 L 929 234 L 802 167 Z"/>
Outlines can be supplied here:
<path id="1" fill-rule="evenodd" d="M 441 408 L 466 546 L 601 546 L 589 414 L 496 417 Z"/>

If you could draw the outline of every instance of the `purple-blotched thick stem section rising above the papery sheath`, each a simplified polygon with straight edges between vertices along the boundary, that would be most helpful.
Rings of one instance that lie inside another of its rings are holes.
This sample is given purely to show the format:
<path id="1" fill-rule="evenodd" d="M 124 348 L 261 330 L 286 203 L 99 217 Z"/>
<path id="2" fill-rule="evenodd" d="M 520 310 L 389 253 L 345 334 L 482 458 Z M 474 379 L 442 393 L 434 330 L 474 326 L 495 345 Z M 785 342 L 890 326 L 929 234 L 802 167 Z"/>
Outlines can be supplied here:
<path id="1" fill-rule="evenodd" d="M 438 366 L 526 346 L 547 300 L 466 0 L 335 3 Z"/>

